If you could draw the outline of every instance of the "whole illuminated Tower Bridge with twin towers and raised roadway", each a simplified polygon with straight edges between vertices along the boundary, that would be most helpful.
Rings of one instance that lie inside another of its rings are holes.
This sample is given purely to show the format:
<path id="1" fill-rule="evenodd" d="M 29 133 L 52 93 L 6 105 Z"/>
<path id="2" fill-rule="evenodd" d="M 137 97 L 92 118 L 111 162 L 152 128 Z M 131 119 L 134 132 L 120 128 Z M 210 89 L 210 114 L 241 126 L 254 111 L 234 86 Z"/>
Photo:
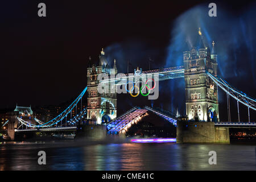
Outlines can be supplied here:
<path id="1" fill-rule="evenodd" d="M 233 88 L 228 82 L 218 77 L 215 43 L 212 42 L 210 47 L 205 44 L 200 28 L 197 38 L 198 43 L 196 46 L 190 46 L 186 42 L 187 49 L 183 52 L 184 65 L 148 71 L 142 71 L 142 69 L 138 68 L 134 69 L 134 73 L 126 73 L 123 78 L 115 77 L 118 73 L 117 61 L 114 60 L 114 66 L 110 69 L 102 48 L 98 63 L 92 64 L 92 60 L 89 58 L 87 68 L 88 85 L 63 113 L 47 122 L 36 118 L 32 118 L 33 122 L 31 122 L 29 119 L 20 117 L 20 115 L 11 114 L 9 119 L 10 130 L 13 131 L 13 133 L 10 131 L 11 138 L 14 139 L 14 131 L 16 133 L 28 130 L 76 130 L 77 125 L 81 126 L 82 121 L 86 121 L 89 124 L 88 126 L 97 126 L 100 132 L 106 131 L 106 134 L 109 135 L 123 135 L 131 125 L 141 121 L 149 112 L 153 112 L 177 127 L 177 143 L 229 143 L 228 127 L 256 127 L 256 123 L 250 122 L 250 109 L 256 110 L 256 100 Z M 98 80 L 97 77 L 101 73 L 108 75 L 109 79 Z M 128 75 L 129 78 L 135 79 L 135 77 L 140 77 L 142 73 L 146 76 L 157 74 L 159 81 L 184 77 L 188 121 L 177 121 L 174 116 L 147 106 L 143 108 L 133 107 L 133 109 L 118 116 L 117 93 L 110 90 L 115 90 L 113 87 L 120 84 L 121 80 L 127 79 Z M 97 88 L 101 82 L 109 85 L 108 93 L 98 93 Z M 223 90 L 227 95 L 228 122 L 220 122 L 218 112 L 219 90 Z M 86 91 L 88 93 L 87 107 L 82 109 L 82 97 L 84 97 Z M 230 121 L 230 98 L 234 98 L 237 101 L 239 122 Z M 248 108 L 248 122 L 240 122 L 239 104 Z M 81 109 L 77 110 L 79 105 Z M 77 114 L 72 117 L 72 111 L 74 110 L 76 110 Z M 100 126 L 102 126 L 103 130 L 100 129 Z M 91 128 L 86 132 L 93 133 L 93 127 Z"/>

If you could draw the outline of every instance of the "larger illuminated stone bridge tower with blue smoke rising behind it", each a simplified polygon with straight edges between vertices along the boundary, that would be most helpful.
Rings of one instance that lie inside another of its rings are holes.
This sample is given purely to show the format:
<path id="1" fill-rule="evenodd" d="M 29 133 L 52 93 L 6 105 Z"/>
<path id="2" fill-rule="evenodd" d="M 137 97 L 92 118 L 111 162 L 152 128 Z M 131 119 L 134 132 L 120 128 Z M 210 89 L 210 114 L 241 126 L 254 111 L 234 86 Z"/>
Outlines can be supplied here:
<path id="1" fill-rule="evenodd" d="M 212 52 L 205 46 L 199 28 L 199 44 L 183 52 L 186 114 L 195 121 L 218 121 L 217 85 L 207 71 L 217 76 L 217 55 L 212 43 Z"/>

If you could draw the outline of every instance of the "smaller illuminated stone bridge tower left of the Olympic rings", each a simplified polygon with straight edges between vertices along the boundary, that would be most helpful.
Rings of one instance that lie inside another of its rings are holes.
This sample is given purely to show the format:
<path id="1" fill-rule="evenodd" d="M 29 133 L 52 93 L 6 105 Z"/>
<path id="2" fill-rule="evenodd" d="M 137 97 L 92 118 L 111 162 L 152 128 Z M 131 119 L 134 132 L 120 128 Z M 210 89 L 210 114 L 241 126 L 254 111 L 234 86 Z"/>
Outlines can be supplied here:
<path id="1" fill-rule="evenodd" d="M 101 51 L 99 56 L 98 64 L 92 64 L 89 57 L 89 65 L 87 68 L 87 119 L 93 123 L 100 125 L 101 123 L 108 122 L 111 119 L 117 117 L 117 93 L 110 92 L 110 83 L 109 83 L 109 93 L 100 94 L 97 91 L 97 86 L 99 81 L 97 77 L 100 73 L 106 73 L 107 75 L 116 75 L 117 66 L 110 69 L 108 61 L 105 57 L 105 52 Z M 115 90 L 112 88 L 112 91 Z"/>

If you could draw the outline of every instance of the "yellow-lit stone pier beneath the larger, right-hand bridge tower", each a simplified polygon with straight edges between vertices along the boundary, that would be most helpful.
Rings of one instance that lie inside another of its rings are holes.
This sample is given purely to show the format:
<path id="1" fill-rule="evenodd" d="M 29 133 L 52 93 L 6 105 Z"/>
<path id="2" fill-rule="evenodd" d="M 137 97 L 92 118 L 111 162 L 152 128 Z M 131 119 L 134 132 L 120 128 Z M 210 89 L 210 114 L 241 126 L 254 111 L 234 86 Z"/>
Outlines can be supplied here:
<path id="1" fill-rule="evenodd" d="M 177 122 L 177 143 L 230 143 L 228 127 L 214 122 Z"/>

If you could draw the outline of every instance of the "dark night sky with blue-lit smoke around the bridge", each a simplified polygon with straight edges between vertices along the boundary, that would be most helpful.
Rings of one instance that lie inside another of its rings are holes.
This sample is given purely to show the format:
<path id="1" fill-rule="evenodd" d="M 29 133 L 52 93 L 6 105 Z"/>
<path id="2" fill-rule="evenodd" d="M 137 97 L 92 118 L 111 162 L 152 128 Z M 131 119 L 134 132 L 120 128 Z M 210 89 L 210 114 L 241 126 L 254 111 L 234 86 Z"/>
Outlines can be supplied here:
<path id="1" fill-rule="evenodd" d="M 38 16 L 38 3 L 47 16 Z M 203 1 L 5 1 L 0 6 L 0 108 L 58 105 L 77 97 L 86 86 L 88 57 L 98 62 L 101 48 L 119 72 L 140 67 L 182 65 L 185 38 L 201 27 L 207 42 L 216 42 L 219 75 L 256 98 L 256 6 L 251 1 L 218 2 L 209 18 Z M 220 10 L 220 11 L 219 11 Z M 195 15 L 195 16 L 194 16 Z M 240 29 L 241 28 L 241 29 Z M 255 35 L 254 35 L 255 34 Z M 168 86 L 166 86 L 168 85 Z M 220 91 L 221 92 L 221 91 Z M 220 93 L 219 92 L 219 93 Z M 226 119 L 220 93 L 220 117 Z M 237 119 L 232 101 L 232 118 Z M 154 105 L 185 114 L 184 78 L 160 82 L 159 98 L 118 95 L 118 112 Z M 246 108 L 241 117 L 247 119 Z M 33 109 L 33 108 L 32 108 Z M 255 113 L 255 112 L 254 112 Z M 256 115 L 251 112 L 251 120 Z M 255 120 L 255 119 L 254 119 Z"/>

